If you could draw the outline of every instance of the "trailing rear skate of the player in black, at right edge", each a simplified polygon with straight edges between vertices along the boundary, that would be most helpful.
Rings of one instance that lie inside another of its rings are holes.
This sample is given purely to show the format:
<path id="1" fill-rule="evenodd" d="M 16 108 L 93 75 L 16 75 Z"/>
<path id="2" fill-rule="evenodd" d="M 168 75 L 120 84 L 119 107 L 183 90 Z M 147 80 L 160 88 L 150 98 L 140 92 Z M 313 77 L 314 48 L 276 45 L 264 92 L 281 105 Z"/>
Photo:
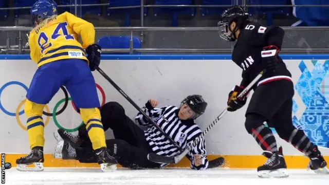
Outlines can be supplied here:
<path id="1" fill-rule="evenodd" d="M 310 152 L 311 153 L 308 155 L 310 161 L 307 169 L 311 169 L 317 174 L 329 174 L 327 163 L 319 151 L 318 146 L 314 145 L 314 148 Z"/>

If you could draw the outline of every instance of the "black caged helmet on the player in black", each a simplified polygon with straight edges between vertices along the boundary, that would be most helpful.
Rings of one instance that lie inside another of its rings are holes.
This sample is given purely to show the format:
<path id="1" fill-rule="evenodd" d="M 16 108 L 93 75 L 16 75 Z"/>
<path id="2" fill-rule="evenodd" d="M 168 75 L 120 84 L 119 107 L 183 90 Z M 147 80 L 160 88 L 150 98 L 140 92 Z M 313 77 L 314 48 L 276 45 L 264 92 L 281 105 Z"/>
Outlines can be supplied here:
<path id="1" fill-rule="evenodd" d="M 232 6 L 225 10 L 218 22 L 218 31 L 222 39 L 226 41 L 235 41 L 237 38 L 235 32 L 242 29 L 246 20 L 248 20 L 249 14 L 243 6 Z M 236 26 L 233 30 L 230 30 L 230 25 L 235 22 Z M 229 33 L 229 31 L 231 33 Z"/>

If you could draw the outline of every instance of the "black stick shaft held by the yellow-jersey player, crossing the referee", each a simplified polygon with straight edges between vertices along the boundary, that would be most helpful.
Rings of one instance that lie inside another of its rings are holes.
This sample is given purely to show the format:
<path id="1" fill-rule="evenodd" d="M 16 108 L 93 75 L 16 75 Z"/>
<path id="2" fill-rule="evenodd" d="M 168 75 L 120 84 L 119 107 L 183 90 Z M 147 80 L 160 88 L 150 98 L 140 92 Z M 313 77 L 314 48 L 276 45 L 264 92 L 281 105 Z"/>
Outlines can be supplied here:
<path id="1" fill-rule="evenodd" d="M 109 78 L 106 73 L 99 68 L 98 66 L 96 67 L 96 70 L 109 82 L 111 85 L 119 91 L 119 93 L 126 99 L 128 100 L 150 123 L 152 123 L 158 131 L 165 136 L 172 144 L 174 144 L 177 149 L 180 150 L 180 152 L 184 152 L 184 150 L 170 137 L 168 136 L 167 133 L 163 132 L 162 129 L 160 128 L 159 125 L 157 125 L 128 95 L 124 93 L 124 91 L 111 79 Z"/>

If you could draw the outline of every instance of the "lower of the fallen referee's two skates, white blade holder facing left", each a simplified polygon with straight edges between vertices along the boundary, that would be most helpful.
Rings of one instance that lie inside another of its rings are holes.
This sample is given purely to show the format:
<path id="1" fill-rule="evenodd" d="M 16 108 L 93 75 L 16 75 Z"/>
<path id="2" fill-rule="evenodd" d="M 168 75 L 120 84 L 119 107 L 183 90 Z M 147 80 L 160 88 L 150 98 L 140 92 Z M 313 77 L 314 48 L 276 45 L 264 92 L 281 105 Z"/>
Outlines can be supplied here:
<path id="1" fill-rule="evenodd" d="M 54 158 L 60 159 L 77 159 L 76 149 L 71 146 L 69 141 L 59 141 L 56 145 Z"/>

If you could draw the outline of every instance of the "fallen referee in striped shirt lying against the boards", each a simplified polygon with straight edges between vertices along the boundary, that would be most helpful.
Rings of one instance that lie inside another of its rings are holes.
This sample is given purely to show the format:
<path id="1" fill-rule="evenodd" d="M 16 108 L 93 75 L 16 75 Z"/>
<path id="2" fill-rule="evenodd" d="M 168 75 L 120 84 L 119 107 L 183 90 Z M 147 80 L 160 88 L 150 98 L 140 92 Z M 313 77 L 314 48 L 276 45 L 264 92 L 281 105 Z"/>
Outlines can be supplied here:
<path id="1" fill-rule="evenodd" d="M 149 100 L 142 109 L 167 133 L 182 149 L 187 143 L 198 137 L 202 131 L 194 120 L 204 114 L 207 103 L 200 95 L 185 98 L 179 107 L 164 106 L 155 108 L 158 102 Z M 143 130 L 125 115 L 124 108 L 117 102 L 108 102 L 100 108 L 104 131 L 113 130 L 115 139 L 106 140 L 109 155 L 113 156 L 120 165 L 130 169 L 158 169 L 168 164 L 159 164 L 147 159 L 149 153 L 164 156 L 176 156 L 179 149 L 163 136 L 152 123 L 141 113 L 135 120 Z M 79 128 L 79 135 L 59 129 L 54 132 L 59 140 L 54 156 L 62 159 L 76 159 L 83 163 L 94 163 L 96 158 L 91 147 L 85 126 Z M 64 141 L 61 141 L 64 140 Z M 191 168 L 205 170 L 208 168 L 205 140 L 187 155 Z M 113 170 L 115 169 L 112 166 Z"/>

